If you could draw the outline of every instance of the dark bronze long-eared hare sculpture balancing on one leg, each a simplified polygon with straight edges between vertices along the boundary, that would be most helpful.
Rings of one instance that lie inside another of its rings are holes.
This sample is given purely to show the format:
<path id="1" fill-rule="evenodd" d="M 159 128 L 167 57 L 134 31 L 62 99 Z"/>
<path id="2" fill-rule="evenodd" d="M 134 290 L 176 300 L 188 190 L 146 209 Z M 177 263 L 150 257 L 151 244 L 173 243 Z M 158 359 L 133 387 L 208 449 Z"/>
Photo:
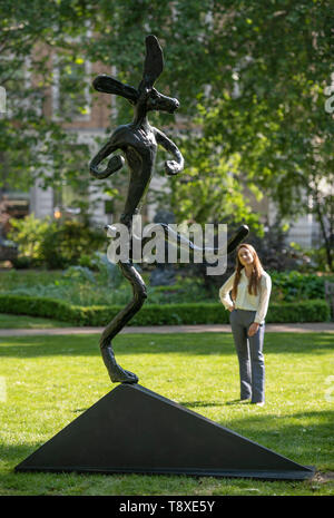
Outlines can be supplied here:
<path id="1" fill-rule="evenodd" d="M 177 99 L 164 96 L 154 88 L 154 84 L 163 69 L 163 50 L 157 38 L 150 35 L 146 38 L 144 72 L 138 88 L 124 85 L 106 75 L 98 76 L 92 82 L 96 90 L 125 97 L 134 106 L 134 120 L 116 128 L 107 144 L 90 163 L 90 174 L 95 178 L 104 179 L 119 170 L 125 164 L 125 158 L 121 155 L 112 156 L 104 170 L 98 169 L 99 164 L 117 149 L 124 153 L 130 169 L 130 182 L 120 223 L 127 225 L 129 232 L 132 216 L 138 214 L 141 208 L 154 173 L 158 144 L 174 157 L 173 160 L 165 163 L 167 175 L 176 175 L 184 168 L 184 158 L 177 146 L 163 131 L 150 126 L 147 119 L 147 114 L 150 110 L 173 114 L 179 107 Z M 161 226 L 165 228 L 166 240 L 168 240 L 167 226 L 163 224 Z M 228 242 L 227 253 L 235 250 L 247 233 L 247 226 L 243 225 L 236 236 Z M 177 236 L 177 238 L 184 241 L 181 236 Z M 189 246 L 194 250 L 191 242 L 189 242 Z M 131 283 L 134 297 L 105 329 L 100 339 L 100 349 L 112 382 L 137 383 L 137 375 L 117 363 L 111 340 L 143 306 L 147 299 L 146 285 L 135 268 L 131 256 L 128 261 L 119 261 L 117 264 L 125 277 Z"/>

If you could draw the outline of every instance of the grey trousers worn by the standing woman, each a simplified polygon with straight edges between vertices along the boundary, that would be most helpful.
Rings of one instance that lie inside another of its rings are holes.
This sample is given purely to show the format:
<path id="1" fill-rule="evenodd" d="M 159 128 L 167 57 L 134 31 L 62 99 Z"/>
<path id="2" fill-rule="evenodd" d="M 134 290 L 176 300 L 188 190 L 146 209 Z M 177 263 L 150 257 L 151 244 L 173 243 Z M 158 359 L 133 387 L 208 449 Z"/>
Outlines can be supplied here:
<path id="1" fill-rule="evenodd" d="M 239 361 L 240 399 L 252 399 L 252 403 L 265 401 L 265 365 L 263 342 L 265 324 L 257 333 L 247 336 L 256 311 L 233 310 L 229 314 L 234 343 Z"/>

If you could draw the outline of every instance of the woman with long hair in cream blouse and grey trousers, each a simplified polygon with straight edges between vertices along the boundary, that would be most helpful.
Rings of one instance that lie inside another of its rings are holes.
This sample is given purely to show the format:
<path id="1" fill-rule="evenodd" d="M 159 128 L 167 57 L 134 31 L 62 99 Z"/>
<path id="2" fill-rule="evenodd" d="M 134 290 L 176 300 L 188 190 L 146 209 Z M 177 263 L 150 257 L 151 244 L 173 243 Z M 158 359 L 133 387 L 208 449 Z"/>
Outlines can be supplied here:
<path id="1" fill-rule="evenodd" d="M 263 270 L 255 248 L 243 243 L 237 247 L 235 272 L 220 287 L 219 297 L 230 312 L 239 361 L 240 400 L 250 399 L 259 405 L 265 402 L 263 342 L 271 291 L 271 276 Z"/>

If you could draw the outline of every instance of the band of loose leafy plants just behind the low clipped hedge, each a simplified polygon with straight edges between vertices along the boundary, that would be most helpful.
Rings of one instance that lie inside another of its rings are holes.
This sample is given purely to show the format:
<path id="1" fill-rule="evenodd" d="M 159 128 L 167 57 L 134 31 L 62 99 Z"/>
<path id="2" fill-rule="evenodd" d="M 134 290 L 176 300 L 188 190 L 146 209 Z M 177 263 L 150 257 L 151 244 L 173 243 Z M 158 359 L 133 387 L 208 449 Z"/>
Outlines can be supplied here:
<path id="1" fill-rule="evenodd" d="M 70 266 L 63 272 L 50 271 L 9 271 L 0 277 L 0 292 L 16 295 L 51 297 L 80 306 L 121 305 L 131 297 L 130 284 L 122 277 L 117 265 L 109 263 L 105 254 L 96 253 L 89 257 L 89 266 Z M 302 274 L 297 271 L 269 271 L 273 281 L 272 303 L 312 301 L 324 299 L 324 282 L 331 276 Z M 199 277 L 177 277 L 170 286 L 150 286 L 147 273 L 147 304 L 204 303 L 218 302 L 218 289 L 224 278 L 217 280 L 217 286 L 207 290 Z"/>

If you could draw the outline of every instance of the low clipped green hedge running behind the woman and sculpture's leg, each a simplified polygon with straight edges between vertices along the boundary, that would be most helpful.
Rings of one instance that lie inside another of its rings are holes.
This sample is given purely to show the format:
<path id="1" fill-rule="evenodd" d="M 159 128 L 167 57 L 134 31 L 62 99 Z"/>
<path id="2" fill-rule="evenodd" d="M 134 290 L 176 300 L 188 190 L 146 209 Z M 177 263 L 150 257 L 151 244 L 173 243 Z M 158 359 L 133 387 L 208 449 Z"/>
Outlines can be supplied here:
<path id="1" fill-rule="evenodd" d="M 77 325 L 104 326 L 124 306 L 77 306 L 56 299 L 0 295 L 1 313 L 45 316 Z M 330 306 L 323 300 L 273 303 L 267 323 L 326 322 Z M 144 304 L 129 325 L 224 324 L 228 312 L 220 303 Z"/>

